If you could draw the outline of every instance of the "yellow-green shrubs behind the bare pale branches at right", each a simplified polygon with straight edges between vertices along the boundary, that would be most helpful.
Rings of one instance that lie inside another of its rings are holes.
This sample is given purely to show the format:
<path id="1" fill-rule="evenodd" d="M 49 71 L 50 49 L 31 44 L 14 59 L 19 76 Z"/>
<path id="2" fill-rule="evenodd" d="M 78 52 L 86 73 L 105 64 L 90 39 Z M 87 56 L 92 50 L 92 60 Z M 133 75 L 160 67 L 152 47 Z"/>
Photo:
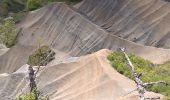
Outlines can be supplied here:
<path id="1" fill-rule="evenodd" d="M 148 60 L 144 60 L 141 57 L 135 56 L 134 54 L 128 54 L 130 60 L 136 68 L 138 73 L 142 73 L 141 80 L 143 82 L 152 82 L 164 80 L 170 84 L 170 61 L 162 65 L 156 65 Z M 108 59 L 111 61 L 112 66 L 121 74 L 133 79 L 133 74 L 131 69 L 128 67 L 128 62 L 125 59 L 123 53 L 112 52 Z M 165 96 L 170 97 L 170 86 L 169 85 L 154 85 L 147 89 L 148 91 L 153 91 L 161 93 Z"/>

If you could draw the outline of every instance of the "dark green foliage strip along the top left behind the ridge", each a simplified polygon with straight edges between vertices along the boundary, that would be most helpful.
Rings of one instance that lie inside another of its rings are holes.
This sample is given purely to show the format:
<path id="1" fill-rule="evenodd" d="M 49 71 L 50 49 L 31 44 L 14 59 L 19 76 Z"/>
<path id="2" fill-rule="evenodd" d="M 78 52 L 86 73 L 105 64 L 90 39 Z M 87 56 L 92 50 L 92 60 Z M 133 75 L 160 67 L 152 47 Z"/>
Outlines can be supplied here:
<path id="1" fill-rule="evenodd" d="M 24 10 L 36 10 L 51 2 L 75 4 L 80 1 L 82 0 L 0 0 L 0 17 L 6 17 L 9 12 L 18 13 Z"/>

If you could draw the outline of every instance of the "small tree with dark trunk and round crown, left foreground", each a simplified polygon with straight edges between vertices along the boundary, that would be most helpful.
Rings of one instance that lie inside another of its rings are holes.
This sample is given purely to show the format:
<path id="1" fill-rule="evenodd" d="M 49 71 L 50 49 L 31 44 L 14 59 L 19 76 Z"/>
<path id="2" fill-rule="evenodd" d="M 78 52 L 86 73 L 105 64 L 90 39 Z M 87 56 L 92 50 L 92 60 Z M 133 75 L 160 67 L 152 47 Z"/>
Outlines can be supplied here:
<path id="1" fill-rule="evenodd" d="M 51 60 L 54 59 L 55 52 L 52 51 L 48 46 L 40 46 L 39 48 L 30 55 L 28 60 L 28 74 L 29 74 L 29 87 L 30 92 L 18 97 L 18 100 L 49 100 L 48 97 L 40 97 L 39 91 L 36 84 L 36 76 L 40 71 L 40 66 L 46 66 Z M 38 66 L 35 71 L 33 66 Z M 26 98 L 26 99 L 25 99 Z"/>

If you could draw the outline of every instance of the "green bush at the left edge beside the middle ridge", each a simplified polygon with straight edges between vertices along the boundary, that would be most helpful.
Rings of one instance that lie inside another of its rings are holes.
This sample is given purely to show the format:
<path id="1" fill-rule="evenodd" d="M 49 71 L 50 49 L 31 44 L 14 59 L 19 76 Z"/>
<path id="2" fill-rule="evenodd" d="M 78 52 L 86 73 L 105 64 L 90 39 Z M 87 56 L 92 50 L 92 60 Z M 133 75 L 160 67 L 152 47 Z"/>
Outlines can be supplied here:
<path id="1" fill-rule="evenodd" d="M 0 41 L 7 47 L 11 47 L 16 43 L 17 34 L 18 30 L 13 20 L 5 20 L 3 24 L 0 25 Z"/>

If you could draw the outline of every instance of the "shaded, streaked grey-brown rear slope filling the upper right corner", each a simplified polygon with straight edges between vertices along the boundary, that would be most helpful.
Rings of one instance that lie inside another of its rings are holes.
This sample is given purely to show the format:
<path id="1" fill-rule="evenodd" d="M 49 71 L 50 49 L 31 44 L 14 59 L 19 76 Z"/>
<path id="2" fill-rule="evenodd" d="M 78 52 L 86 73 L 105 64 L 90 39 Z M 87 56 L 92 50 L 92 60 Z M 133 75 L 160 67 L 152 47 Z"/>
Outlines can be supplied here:
<path id="1" fill-rule="evenodd" d="M 81 13 L 124 39 L 170 48 L 170 3 L 164 0 L 84 0 Z"/>

